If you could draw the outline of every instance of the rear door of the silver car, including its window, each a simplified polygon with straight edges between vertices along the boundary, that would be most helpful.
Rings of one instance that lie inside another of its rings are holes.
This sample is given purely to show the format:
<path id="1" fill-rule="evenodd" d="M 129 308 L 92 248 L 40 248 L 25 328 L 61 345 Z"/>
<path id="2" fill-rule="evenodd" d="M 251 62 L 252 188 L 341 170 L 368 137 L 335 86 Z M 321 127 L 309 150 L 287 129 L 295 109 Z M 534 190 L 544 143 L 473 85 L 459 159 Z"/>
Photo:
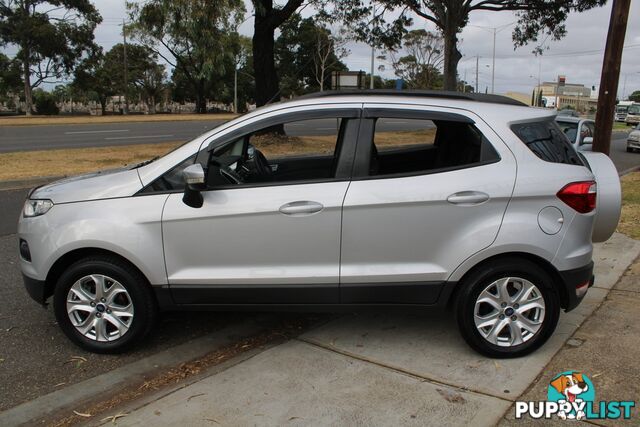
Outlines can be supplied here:
<path id="1" fill-rule="evenodd" d="M 437 301 L 495 240 L 516 164 L 469 112 L 366 105 L 342 219 L 341 301 Z"/>

